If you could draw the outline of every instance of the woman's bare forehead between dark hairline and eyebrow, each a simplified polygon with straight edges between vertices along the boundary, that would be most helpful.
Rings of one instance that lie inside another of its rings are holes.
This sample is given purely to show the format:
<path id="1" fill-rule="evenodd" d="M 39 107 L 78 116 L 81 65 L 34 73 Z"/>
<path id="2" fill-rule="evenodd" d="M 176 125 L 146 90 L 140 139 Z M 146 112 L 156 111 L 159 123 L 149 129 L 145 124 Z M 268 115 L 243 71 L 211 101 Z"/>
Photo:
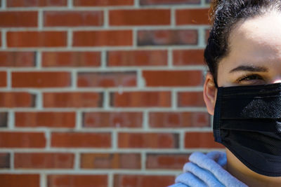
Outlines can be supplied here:
<path id="1" fill-rule="evenodd" d="M 238 65 L 281 65 L 281 13 L 272 11 L 265 15 L 240 21 L 230 32 L 230 52 L 218 65 L 230 69 Z M 219 72 L 218 72 L 219 73 Z"/>

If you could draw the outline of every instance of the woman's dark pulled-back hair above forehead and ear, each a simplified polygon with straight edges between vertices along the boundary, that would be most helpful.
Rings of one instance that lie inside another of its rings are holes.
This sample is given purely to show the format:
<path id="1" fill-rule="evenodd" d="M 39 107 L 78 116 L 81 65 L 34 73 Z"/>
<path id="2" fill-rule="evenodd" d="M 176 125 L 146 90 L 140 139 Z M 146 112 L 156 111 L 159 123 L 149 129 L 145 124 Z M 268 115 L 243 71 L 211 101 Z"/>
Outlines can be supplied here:
<path id="1" fill-rule="evenodd" d="M 228 37 L 233 26 L 266 11 L 281 10 L 281 0 L 216 0 L 211 2 L 211 31 L 204 50 L 204 60 L 216 83 L 218 62 L 229 53 Z"/>

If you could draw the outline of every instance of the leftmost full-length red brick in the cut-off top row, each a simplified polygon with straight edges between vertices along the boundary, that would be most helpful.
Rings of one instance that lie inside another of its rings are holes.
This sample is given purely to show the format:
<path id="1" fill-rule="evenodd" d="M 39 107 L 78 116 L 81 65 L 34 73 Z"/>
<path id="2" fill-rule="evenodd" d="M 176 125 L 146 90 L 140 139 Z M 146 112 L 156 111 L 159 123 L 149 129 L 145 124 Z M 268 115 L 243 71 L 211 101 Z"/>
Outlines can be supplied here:
<path id="1" fill-rule="evenodd" d="M 67 0 L 8 0 L 7 7 L 67 6 Z"/>

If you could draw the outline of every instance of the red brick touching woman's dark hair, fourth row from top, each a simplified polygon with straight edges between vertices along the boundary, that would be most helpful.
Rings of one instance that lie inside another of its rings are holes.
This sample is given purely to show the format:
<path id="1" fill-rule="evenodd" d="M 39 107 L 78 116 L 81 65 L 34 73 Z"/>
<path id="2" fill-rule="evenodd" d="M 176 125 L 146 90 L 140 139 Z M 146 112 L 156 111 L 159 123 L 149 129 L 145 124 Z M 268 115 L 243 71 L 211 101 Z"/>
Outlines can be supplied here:
<path id="1" fill-rule="evenodd" d="M 204 65 L 204 50 L 174 50 L 175 66 Z"/>

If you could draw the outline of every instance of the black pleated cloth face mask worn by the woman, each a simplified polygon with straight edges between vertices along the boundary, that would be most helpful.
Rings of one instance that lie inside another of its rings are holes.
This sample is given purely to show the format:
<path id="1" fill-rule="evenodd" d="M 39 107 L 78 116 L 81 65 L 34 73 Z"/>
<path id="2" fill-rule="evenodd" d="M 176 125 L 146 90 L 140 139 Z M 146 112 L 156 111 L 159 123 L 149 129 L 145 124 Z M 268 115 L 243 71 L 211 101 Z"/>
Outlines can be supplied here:
<path id="1" fill-rule="evenodd" d="M 254 172 L 281 176 L 281 83 L 218 88 L 214 137 Z"/>

